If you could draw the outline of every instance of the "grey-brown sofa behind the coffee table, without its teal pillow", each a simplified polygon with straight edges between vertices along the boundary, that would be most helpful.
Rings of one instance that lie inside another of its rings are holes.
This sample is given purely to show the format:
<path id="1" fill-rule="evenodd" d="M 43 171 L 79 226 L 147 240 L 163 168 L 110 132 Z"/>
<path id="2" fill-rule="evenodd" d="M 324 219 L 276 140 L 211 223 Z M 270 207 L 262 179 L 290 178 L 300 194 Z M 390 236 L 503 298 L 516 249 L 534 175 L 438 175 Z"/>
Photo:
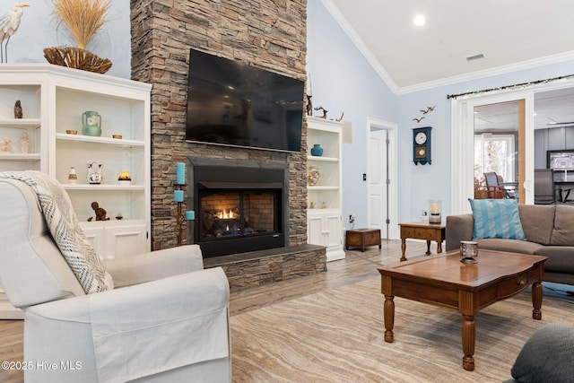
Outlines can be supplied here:
<path id="1" fill-rule="evenodd" d="M 518 205 L 518 213 L 526 240 L 473 239 L 473 214 L 447 216 L 447 251 L 475 240 L 479 249 L 545 256 L 544 281 L 574 285 L 574 206 Z"/>

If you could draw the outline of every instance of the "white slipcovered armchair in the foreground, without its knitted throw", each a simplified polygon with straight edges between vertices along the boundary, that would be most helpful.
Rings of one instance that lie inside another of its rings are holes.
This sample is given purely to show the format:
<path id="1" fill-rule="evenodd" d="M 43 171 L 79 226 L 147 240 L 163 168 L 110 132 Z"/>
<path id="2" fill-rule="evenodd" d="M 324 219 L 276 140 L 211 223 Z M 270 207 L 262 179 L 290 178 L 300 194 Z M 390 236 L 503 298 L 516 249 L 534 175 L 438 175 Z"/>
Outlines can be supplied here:
<path id="1" fill-rule="evenodd" d="M 106 261 L 86 293 L 37 190 L 3 177 L 0 284 L 25 312 L 26 381 L 230 382 L 229 285 L 198 246 Z"/>

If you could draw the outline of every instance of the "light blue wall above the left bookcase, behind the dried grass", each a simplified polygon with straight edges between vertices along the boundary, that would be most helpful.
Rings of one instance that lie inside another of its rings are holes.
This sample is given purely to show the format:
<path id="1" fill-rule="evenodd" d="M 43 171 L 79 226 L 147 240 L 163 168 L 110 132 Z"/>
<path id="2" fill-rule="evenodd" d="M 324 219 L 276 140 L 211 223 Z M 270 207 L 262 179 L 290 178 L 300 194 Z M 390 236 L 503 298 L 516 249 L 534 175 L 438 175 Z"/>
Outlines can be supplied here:
<path id="1" fill-rule="evenodd" d="M 10 11 L 17 2 L 2 3 L 0 14 Z M 47 0 L 26 3 L 30 6 L 24 8 L 20 28 L 8 43 L 9 63 L 48 63 L 44 58 L 44 48 L 75 47 L 74 39 L 63 28 L 57 29 L 57 22 L 52 17 L 52 9 Z M 111 60 L 112 67 L 107 74 L 130 78 L 132 50 L 129 1 L 111 2 L 107 20 L 86 48 L 98 57 Z"/>

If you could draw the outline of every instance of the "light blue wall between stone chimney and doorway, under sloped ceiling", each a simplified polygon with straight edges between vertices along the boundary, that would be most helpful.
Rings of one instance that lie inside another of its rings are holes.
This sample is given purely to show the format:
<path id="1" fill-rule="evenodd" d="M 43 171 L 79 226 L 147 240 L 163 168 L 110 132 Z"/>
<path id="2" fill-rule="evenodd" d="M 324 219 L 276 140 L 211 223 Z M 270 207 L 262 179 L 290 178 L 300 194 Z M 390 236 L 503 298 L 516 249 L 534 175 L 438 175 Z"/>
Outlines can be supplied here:
<path id="1" fill-rule="evenodd" d="M 396 122 L 396 96 L 319 0 L 309 0 L 307 12 L 307 69 L 313 105 L 327 109 L 327 118 L 339 118 L 344 112 L 344 119 L 352 122 L 352 144 L 343 145 L 343 216 L 355 214 L 355 227 L 364 227 L 367 118 Z M 347 220 L 344 226 L 351 227 Z"/>

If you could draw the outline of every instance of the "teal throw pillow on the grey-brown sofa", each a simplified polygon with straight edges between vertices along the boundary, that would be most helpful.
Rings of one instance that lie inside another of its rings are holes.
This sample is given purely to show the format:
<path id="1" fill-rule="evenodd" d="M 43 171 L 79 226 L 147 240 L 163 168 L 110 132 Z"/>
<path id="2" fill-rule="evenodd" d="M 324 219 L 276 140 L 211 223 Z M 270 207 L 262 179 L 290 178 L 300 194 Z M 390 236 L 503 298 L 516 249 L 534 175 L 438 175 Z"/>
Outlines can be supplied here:
<path id="1" fill-rule="evenodd" d="M 517 199 L 472 199 L 474 239 L 505 238 L 525 240 Z"/>

